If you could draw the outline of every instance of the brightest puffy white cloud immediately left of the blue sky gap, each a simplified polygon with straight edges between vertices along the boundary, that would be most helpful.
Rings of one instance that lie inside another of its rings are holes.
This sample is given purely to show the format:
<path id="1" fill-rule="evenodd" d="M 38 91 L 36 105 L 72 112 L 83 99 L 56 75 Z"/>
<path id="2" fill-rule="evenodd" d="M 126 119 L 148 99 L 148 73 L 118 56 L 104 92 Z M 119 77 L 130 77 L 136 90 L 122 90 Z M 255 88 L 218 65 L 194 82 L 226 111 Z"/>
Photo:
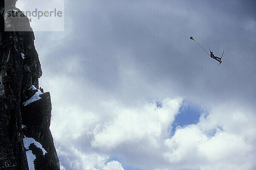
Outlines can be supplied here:
<path id="1" fill-rule="evenodd" d="M 93 147 L 113 149 L 127 141 L 159 147 L 163 137 L 168 136 L 168 128 L 178 113 L 182 99 L 165 99 L 163 107 L 156 103 L 141 108 L 121 108 L 113 122 L 108 122 L 100 130 L 95 130 Z"/>

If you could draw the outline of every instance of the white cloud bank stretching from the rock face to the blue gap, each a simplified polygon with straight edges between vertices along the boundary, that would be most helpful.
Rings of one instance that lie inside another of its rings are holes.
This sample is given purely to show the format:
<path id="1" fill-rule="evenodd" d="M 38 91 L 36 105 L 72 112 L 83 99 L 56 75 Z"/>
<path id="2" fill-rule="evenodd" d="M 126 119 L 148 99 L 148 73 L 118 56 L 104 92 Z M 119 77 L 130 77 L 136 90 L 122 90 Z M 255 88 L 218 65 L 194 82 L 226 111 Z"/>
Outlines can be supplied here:
<path id="1" fill-rule="evenodd" d="M 182 99 L 165 99 L 161 103 L 161 108 L 157 108 L 155 102 L 129 108 L 119 102 L 105 101 L 98 103 L 102 109 L 99 113 L 78 109 L 77 105 L 62 106 L 57 112 L 60 114 L 53 117 L 58 123 L 51 125 L 56 131 L 54 139 L 63 161 L 61 165 L 66 169 L 87 169 L 85 165 L 91 164 L 101 170 L 102 166 L 96 165 L 107 163 L 112 155 L 131 161 L 135 157 L 140 161 L 139 158 L 145 156 L 143 164 L 148 159 L 154 160 L 154 154 L 172 130 Z M 108 116 L 104 116 L 104 112 Z"/>

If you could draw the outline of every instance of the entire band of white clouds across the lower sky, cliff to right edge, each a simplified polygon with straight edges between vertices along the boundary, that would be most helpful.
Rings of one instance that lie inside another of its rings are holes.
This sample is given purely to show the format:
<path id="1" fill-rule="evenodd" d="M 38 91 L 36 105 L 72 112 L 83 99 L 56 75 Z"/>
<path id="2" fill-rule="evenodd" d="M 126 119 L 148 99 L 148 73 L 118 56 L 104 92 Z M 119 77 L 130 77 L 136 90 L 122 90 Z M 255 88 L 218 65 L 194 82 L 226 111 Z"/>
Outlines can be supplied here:
<path id="1" fill-rule="evenodd" d="M 207 116 L 203 113 L 197 124 L 177 127 L 170 137 L 181 98 L 164 99 L 161 108 L 155 102 L 130 107 L 114 99 L 99 101 L 95 106 L 90 103 L 90 109 L 76 102 L 54 108 L 51 130 L 63 168 L 116 166 L 122 170 L 120 163 L 108 161 L 111 156 L 147 170 L 250 170 L 256 166 L 256 119 L 251 111 L 224 103 Z"/>

